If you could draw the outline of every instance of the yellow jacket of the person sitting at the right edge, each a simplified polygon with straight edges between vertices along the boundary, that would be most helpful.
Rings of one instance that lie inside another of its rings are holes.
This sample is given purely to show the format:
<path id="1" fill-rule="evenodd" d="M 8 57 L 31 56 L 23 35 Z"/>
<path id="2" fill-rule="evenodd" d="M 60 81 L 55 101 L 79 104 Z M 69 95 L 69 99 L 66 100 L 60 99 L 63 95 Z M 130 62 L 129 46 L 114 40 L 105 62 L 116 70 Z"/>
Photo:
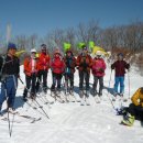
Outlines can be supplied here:
<path id="1" fill-rule="evenodd" d="M 141 94 L 141 88 L 139 88 L 135 94 L 132 96 L 131 100 L 135 106 L 143 107 L 143 94 Z"/>

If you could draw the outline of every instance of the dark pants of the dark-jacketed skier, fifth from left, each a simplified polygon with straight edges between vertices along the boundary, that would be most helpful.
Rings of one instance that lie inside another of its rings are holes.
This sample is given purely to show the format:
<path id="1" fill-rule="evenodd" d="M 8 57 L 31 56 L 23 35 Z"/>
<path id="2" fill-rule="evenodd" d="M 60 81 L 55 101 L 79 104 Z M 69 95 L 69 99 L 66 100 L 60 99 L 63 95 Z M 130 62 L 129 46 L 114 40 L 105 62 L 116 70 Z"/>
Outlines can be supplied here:
<path id="1" fill-rule="evenodd" d="M 69 87 L 68 81 L 70 82 L 70 90 L 74 89 L 74 74 L 66 74 L 65 75 L 65 84 Z"/>

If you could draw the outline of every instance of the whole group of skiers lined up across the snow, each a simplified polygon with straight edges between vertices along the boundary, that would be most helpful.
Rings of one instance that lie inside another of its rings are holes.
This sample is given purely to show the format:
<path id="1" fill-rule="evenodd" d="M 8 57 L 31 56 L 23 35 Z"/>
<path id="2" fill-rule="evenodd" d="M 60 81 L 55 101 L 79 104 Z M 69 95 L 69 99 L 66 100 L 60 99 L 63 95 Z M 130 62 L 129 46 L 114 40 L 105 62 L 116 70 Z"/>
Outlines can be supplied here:
<path id="1" fill-rule="evenodd" d="M 7 99 L 8 110 L 14 110 L 14 98 L 18 88 L 18 78 L 20 78 L 20 61 L 15 56 L 16 45 L 14 43 L 8 44 L 8 52 L 4 57 L 0 57 L 0 76 L 1 76 L 1 92 L 0 92 L 0 111 L 2 109 L 2 103 Z M 79 70 L 79 96 L 81 102 L 84 100 L 84 95 L 89 98 L 89 78 L 90 72 L 94 75 L 92 84 L 92 96 L 102 96 L 103 89 L 103 76 L 106 70 L 106 62 L 102 58 L 102 53 L 98 51 L 95 58 L 92 58 L 86 46 L 82 46 L 81 53 L 74 56 L 72 50 L 67 50 L 65 56 L 58 48 L 55 50 L 53 57 L 50 56 L 46 44 L 41 45 L 41 53 L 37 56 L 35 48 L 31 50 L 31 54 L 24 59 L 24 74 L 25 74 L 25 88 L 23 91 L 23 100 L 28 100 L 28 94 L 32 99 L 36 98 L 36 92 L 38 92 L 40 86 L 42 86 L 44 92 L 47 91 L 47 74 L 48 69 L 52 70 L 53 84 L 51 87 L 52 91 L 61 91 L 62 89 L 62 78 L 65 77 L 65 81 L 69 80 L 69 92 L 74 91 L 74 73 L 76 68 Z M 116 70 L 116 82 L 114 82 L 114 97 L 117 95 L 123 96 L 124 94 L 124 74 L 125 69 L 129 69 L 130 65 L 123 61 L 123 54 L 118 54 L 118 61 L 111 65 L 111 70 Z M 85 85 L 84 85 L 85 81 Z M 99 90 L 97 90 L 97 85 L 99 81 Z M 120 85 L 120 91 L 118 91 Z M 84 92 L 86 91 L 86 94 Z M 143 105 L 143 90 L 138 92 L 139 96 L 133 98 L 135 103 L 130 106 L 129 112 L 134 116 L 139 105 Z M 141 103 L 136 103 L 136 99 L 140 99 Z M 142 108 L 140 108 L 142 109 Z M 129 119 L 129 118 L 128 118 Z"/>

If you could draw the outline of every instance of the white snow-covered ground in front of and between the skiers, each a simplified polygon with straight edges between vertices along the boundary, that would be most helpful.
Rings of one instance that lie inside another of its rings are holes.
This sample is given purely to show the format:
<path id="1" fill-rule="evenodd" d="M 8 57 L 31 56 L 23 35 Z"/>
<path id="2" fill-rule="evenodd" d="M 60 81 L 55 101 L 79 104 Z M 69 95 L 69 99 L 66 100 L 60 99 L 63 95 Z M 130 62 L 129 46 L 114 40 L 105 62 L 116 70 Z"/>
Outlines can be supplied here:
<path id="1" fill-rule="evenodd" d="M 109 82 L 111 77 L 111 81 Z M 21 67 L 21 78 L 24 81 L 23 69 Z M 12 135 L 9 135 L 8 121 L 0 120 L 0 143 L 142 143 L 143 127 L 140 121 L 135 121 L 133 127 L 120 125 L 122 117 L 116 116 L 109 97 L 114 84 L 114 73 L 108 67 L 105 76 L 103 97 L 100 103 L 96 103 L 90 95 L 90 106 L 80 106 L 79 102 L 44 105 L 42 99 L 37 98 L 43 109 L 47 112 L 47 119 L 41 109 L 38 112 L 29 107 L 21 99 L 24 85 L 19 81 L 15 108 L 20 114 L 28 114 L 42 120 L 30 123 L 29 119 L 10 114 L 13 120 Z M 129 80 L 130 79 L 130 80 Z M 130 82 L 130 86 L 129 86 Z M 48 87 L 52 84 L 51 72 L 48 73 Z M 92 76 L 90 77 L 92 85 Z M 125 75 L 125 97 L 129 98 L 134 91 L 143 86 L 143 77 L 132 68 Z M 90 85 L 90 86 L 91 86 Z M 109 87 L 110 85 L 110 87 Z M 130 87 L 130 88 L 129 88 Z M 130 90 L 130 95 L 129 95 Z M 78 96 L 78 72 L 75 74 L 75 97 Z M 50 97 L 50 90 L 46 95 L 48 100 L 54 101 Z M 41 99 L 41 100 L 40 100 Z M 119 102 L 113 102 L 116 107 Z M 128 106 L 130 100 L 124 105 Z M 3 109 L 6 103 L 3 105 Z M 7 116 L 7 114 L 6 114 Z"/>

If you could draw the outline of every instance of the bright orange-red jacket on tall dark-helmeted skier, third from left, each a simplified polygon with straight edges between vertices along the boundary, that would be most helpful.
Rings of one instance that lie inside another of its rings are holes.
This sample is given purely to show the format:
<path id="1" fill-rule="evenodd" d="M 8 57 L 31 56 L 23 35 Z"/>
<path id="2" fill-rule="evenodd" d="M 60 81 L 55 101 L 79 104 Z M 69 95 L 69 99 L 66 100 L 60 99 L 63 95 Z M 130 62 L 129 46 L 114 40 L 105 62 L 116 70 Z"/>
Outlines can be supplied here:
<path id="1" fill-rule="evenodd" d="M 38 57 L 38 69 L 40 70 L 48 70 L 50 61 L 51 61 L 50 55 L 45 55 L 45 54 L 41 53 L 40 57 Z"/>

